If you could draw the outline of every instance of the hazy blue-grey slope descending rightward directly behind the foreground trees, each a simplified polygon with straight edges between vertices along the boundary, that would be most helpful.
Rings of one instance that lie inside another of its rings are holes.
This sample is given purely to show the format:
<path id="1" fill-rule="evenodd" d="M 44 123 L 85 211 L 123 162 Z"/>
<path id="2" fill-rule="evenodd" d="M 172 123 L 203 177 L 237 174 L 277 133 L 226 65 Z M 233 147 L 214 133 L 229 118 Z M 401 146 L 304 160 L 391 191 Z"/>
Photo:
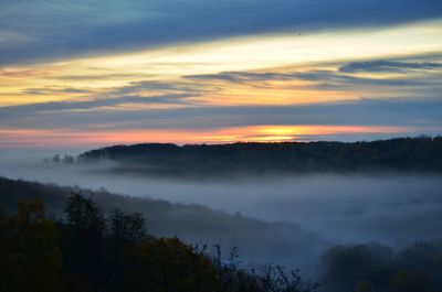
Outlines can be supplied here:
<path id="1" fill-rule="evenodd" d="M 72 193 L 93 197 L 105 213 L 112 213 L 114 208 L 140 213 L 154 236 L 178 236 L 189 244 L 221 244 L 225 250 L 236 247 L 244 261 L 277 262 L 309 269 L 311 259 L 324 247 L 316 234 L 293 223 L 267 223 L 200 205 L 171 204 L 104 190 L 88 191 L 0 177 L 0 206 L 9 214 L 17 209 L 19 202 L 40 198 L 50 217 L 61 218 L 65 201 Z"/>

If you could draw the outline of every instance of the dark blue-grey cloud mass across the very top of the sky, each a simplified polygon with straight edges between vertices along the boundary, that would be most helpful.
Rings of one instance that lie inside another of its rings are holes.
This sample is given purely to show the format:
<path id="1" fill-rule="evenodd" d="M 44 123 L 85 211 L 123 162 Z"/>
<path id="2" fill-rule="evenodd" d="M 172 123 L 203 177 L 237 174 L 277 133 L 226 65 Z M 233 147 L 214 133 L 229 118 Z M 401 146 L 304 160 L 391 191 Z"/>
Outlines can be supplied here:
<path id="1" fill-rule="evenodd" d="M 394 24 L 441 15 L 439 0 L 3 0 L 0 64 L 252 33 Z"/>

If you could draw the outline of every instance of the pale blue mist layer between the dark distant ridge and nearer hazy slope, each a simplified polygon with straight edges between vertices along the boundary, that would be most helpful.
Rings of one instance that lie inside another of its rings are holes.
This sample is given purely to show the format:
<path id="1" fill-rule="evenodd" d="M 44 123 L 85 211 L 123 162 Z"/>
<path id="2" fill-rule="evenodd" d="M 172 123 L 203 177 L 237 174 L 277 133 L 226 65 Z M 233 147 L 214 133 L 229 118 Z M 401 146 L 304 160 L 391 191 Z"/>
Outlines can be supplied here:
<path id="1" fill-rule="evenodd" d="M 112 174 L 104 171 L 105 164 L 44 165 L 41 158 L 28 154 L 14 159 L 4 153 L 0 175 L 92 190 L 104 187 L 269 221 L 296 223 L 334 244 L 406 245 L 432 239 L 442 231 L 440 175 L 318 173 L 197 181 Z"/>

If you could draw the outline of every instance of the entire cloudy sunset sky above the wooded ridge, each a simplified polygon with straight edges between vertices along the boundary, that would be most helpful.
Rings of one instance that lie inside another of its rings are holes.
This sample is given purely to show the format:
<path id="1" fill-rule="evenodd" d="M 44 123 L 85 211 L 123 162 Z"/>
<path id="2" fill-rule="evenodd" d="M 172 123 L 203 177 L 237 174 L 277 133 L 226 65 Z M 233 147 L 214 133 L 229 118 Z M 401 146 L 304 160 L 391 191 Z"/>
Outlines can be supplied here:
<path id="1" fill-rule="evenodd" d="M 0 0 L 0 149 L 442 133 L 440 0 Z"/>

